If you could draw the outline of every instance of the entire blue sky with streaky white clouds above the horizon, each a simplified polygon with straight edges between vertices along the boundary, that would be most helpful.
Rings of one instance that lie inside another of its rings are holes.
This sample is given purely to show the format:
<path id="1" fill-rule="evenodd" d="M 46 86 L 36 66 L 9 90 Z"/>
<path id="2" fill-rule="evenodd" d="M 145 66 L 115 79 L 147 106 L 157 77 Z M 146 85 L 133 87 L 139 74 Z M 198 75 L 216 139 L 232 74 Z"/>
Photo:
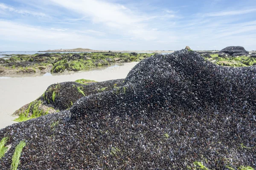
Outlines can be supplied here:
<path id="1" fill-rule="evenodd" d="M 255 0 L 0 0 L 0 51 L 256 50 Z"/>

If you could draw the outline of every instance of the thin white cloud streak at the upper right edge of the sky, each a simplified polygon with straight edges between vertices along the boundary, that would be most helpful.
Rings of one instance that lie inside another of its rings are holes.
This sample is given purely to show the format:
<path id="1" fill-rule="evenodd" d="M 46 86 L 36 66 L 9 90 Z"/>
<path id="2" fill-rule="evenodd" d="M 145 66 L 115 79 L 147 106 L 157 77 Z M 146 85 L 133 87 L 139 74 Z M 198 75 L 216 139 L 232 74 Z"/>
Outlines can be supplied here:
<path id="1" fill-rule="evenodd" d="M 222 16 L 229 16 L 229 15 L 241 15 L 241 14 L 248 14 L 251 12 L 255 12 L 256 9 L 242 9 L 242 10 L 235 10 L 235 11 L 218 11 L 218 12 L 211 12 L 204 14 L 206 17 L 222 17 Z"/>

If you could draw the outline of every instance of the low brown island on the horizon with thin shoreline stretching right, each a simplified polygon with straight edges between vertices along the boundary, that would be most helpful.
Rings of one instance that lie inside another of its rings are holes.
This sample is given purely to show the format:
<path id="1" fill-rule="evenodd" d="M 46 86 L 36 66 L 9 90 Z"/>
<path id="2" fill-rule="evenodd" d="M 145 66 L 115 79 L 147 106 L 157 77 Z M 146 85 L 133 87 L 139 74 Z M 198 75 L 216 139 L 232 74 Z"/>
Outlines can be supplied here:
<path id="1" fill-rule="evenodd" d="M 139 51 L 122 51 L 122 50 L 111 50 L 111 51 L 108 51 L 108 50 L 92 50 L 92 49 L 89 49 L 89 48 L 74 48 L 74 49 L 58 49 L 58 50 L 47 50 L 47 51 L 38 51 L 38 52 L 142 52 L 142 53 L 172 53 L 174 51 L 164 51 L 164 50 L 139 50 Z"/>

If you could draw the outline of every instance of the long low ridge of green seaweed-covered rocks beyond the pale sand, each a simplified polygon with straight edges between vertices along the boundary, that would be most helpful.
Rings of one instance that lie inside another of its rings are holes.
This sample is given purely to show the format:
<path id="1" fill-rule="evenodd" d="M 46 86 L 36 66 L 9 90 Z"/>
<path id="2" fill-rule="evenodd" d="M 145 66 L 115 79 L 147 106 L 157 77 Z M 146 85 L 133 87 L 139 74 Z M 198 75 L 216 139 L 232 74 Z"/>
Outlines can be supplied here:
<path id="1" fill-rule="evenodd" d="M 147 53 L 46 53 L 10 55 L 0 59 L 0 74 L 61 73 L 111 65 L 114 62 L 140 61 L 154 54 Z"/>

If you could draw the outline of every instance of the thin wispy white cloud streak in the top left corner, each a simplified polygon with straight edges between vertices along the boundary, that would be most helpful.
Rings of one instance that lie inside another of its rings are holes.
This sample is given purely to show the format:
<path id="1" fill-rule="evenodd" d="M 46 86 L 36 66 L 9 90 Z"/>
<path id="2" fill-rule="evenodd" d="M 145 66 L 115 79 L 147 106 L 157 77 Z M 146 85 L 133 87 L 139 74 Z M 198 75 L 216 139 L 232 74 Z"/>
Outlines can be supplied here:
<path id="1" fill-rule="evenodd" d="M 34 11 L 27 11 L 27 10 L 19 10 L 19 9 L 15 9 L 11 6 L 7 6 L 4 3 L 0 3 L 0 9 L 4 10 L 4 11 L 9 11 L 9 12 L 15 12 L 17 14 L 23 14 L 23 15 L 33 15 L 35 17 L 47 17 L 46 14 L 41 13 L 41 12 L 34 12 Z"/>

